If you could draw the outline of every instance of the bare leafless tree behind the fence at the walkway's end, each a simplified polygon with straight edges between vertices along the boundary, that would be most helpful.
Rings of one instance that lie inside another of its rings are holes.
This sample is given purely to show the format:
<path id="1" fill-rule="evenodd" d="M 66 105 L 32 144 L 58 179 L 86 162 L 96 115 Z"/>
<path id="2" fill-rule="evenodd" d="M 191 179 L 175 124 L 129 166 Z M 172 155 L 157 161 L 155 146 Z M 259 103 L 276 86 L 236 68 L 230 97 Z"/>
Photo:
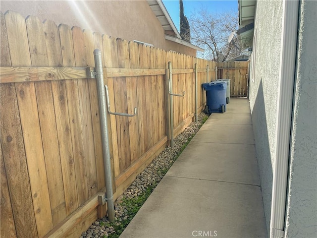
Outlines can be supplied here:
<path id="1" fill-rule="evenodd" d="M 241 54 L 238 39 L 235 36 L 228 43 L 231 32 L 238 30 L 237 12 L 213 14 L 201 9 L 190 18 L 191 39 L 205 49 L 204 57 L 214 61 L 225 61 Z"/>

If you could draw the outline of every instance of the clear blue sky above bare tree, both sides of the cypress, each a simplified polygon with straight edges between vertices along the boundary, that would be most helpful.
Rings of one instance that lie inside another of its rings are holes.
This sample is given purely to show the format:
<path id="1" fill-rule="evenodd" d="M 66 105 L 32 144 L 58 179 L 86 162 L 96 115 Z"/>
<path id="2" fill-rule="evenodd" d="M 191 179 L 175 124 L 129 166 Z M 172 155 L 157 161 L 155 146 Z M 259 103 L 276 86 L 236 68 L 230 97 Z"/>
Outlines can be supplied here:
<path id="1" fill-rule="evenodd" d="M 179 31 L 179 0 L 162 0 L 176 28 Z M 183 0 L 184 14 L 187 18 L 202 7 L 209 12 L 238 11 L 238 0 Z"/>

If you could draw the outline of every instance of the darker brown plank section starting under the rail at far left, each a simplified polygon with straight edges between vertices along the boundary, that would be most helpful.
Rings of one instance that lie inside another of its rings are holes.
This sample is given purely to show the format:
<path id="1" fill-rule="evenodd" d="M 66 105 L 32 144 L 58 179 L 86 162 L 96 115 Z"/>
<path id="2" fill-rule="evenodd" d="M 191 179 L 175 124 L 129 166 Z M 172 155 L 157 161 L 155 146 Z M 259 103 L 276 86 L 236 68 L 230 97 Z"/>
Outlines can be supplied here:
<path id="1" fill-rule="evenodd" d="M 15 87 L 5 83 L 0 90 L 1 148 L 17 237 L 38 237 Z"/>

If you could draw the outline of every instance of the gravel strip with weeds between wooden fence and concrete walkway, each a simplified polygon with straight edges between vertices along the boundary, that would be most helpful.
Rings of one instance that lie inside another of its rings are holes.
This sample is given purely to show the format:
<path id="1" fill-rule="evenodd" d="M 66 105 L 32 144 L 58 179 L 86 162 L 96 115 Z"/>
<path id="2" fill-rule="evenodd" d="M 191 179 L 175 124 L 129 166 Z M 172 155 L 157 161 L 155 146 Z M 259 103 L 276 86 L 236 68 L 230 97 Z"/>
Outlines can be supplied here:
<path id="1" fill-rule="evenodd" d="M 208 117 L 201 113 L 198 123 L 192 122 L 174 139 L 174 148 L 166 147 L 117 198 L 114 202 L 114 222 L 110 223 L 106 217 L 99 219 L 80 238 L 118 238 Z"/>

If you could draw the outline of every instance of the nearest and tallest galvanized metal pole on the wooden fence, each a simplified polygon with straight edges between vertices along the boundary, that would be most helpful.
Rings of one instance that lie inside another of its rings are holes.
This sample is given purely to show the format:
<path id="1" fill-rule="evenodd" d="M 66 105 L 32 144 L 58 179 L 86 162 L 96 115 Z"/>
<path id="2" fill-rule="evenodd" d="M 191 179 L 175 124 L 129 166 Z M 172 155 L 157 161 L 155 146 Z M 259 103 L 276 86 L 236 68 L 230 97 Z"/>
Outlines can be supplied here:
<path id="1" fill-rule="evenodd" d="M 101 134 L 104 152 L 104 165 L 105 165 L 105 179 L 106 179 L 106 201 L 108 209 L 108 220 L 114 221 L 114 205 L 113 205 L 113 190 L 112 190 L 112 173 L 110 162 L 110 148 L 108 137 L 108 124 L 107 124 L 107 110 L 106 110 L 106 91 L 104 85 L 104 72 L 103 62 L 101 57 L 101 50 L 94 50 L 95 57 L 95 72 L 97 78 L 100 121 L 101 121 Z"/>

